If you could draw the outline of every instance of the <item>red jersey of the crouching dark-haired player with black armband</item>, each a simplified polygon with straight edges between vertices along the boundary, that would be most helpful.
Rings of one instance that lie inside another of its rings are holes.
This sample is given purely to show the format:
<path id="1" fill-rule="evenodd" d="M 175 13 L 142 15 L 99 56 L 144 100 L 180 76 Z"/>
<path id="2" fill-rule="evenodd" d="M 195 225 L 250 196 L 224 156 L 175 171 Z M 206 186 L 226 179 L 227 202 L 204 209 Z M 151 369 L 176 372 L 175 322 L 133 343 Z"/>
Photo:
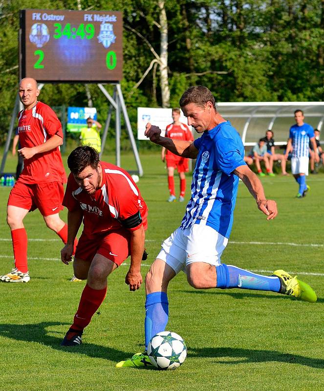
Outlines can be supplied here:
<path id="1" fill-rule="evenodd" d="M 82 210 L 83 232 L 87 236 L 120 230 L 127 218 L 138 213 L 142 222 L 129 229 L 135 231 L 142 225 L 147 228 L 148 208 L 130 174 L 113 164 L 100 163 L 103 175 L 101 188 L 89 195 L 70 174 L 62 204 L 69 211 Z"/>

